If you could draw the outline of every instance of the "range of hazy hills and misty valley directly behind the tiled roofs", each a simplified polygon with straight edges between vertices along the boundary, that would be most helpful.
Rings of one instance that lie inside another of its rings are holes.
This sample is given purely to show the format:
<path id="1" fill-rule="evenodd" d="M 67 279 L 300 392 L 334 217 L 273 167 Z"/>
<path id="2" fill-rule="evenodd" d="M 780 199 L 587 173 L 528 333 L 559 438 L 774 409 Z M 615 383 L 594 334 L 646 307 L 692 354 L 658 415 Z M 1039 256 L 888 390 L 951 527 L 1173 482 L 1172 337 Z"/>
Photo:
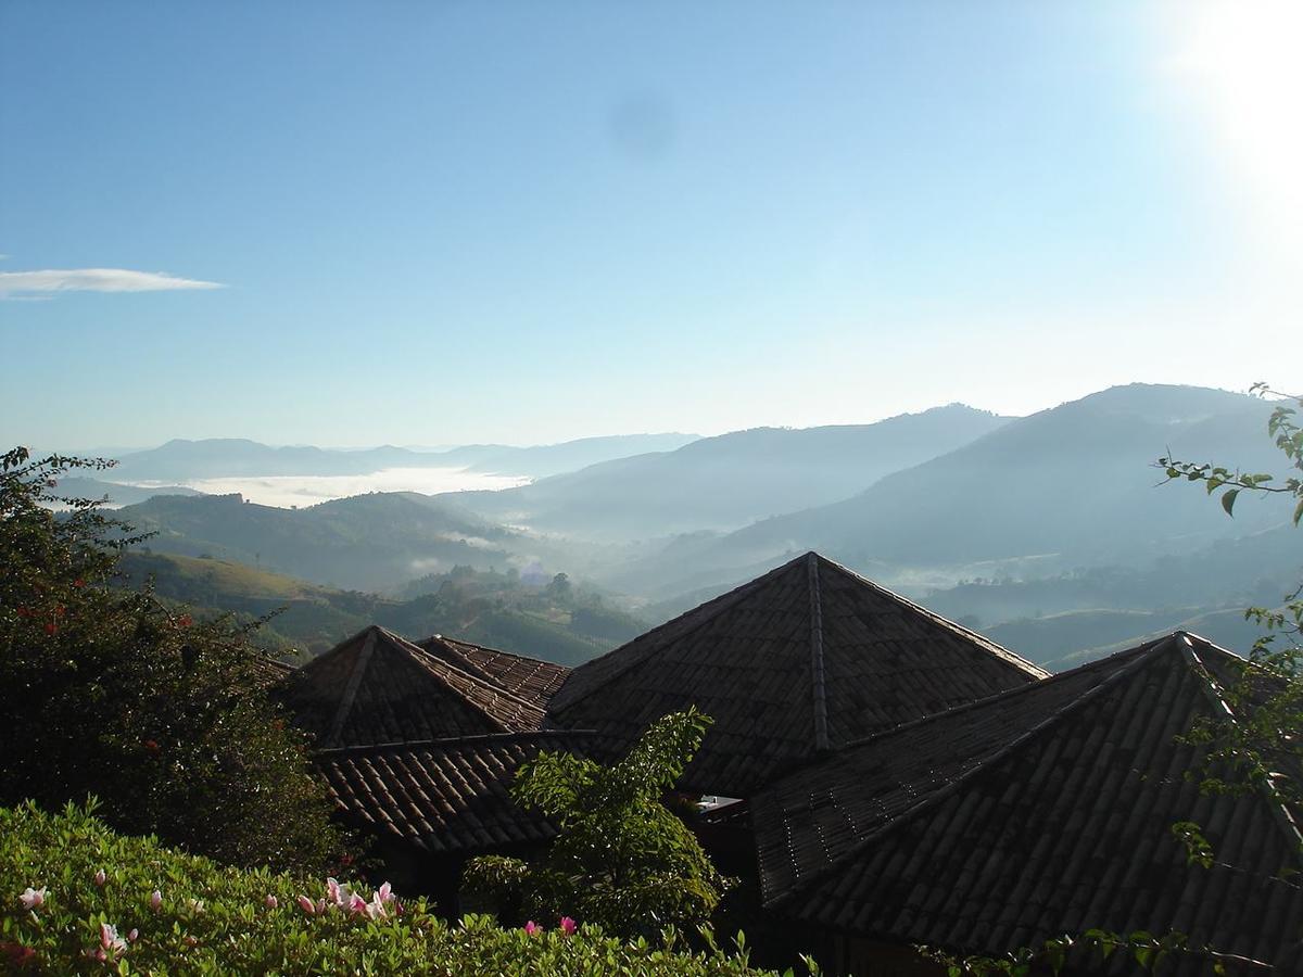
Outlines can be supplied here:
<path id="1" fill-rule="evenodd" d="M 1154 468 L 1165 455 L 1278 468 L 1270 409 L 1132 384 L 1023 418 L 950 405 L 739 431 L 499 492 L 373 492 L 297 511 L 158 496 L 121 515 L 156 533 L 155 552 L 388 599 L 420 597 L 422 577 L 457 565 L 566 571 L 649 623 L 817 550 L 1028 658 L 1066 662 L 1173 621 L 1242 636 L 1235 608 L 1278 601 L 1303 563 L 1287 508 L 1244 498 L 1231 520 Z M 457 457 L 499 464 L 487 447 Z"/>

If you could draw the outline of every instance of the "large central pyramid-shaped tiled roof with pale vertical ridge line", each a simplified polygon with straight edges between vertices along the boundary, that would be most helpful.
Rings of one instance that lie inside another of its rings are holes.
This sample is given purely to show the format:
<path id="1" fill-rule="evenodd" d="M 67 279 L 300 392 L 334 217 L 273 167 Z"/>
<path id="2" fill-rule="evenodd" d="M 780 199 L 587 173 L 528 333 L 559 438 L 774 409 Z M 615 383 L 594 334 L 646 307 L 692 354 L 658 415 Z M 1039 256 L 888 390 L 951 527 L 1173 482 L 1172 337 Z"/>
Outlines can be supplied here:
<path id="1" fill-rule="evenodd" d="M 749 796 L 794 765 L 1046 672 L 809 552 L 575 668 L 549 703 L 605 749 L 696 705 L 680 786 Z"/>

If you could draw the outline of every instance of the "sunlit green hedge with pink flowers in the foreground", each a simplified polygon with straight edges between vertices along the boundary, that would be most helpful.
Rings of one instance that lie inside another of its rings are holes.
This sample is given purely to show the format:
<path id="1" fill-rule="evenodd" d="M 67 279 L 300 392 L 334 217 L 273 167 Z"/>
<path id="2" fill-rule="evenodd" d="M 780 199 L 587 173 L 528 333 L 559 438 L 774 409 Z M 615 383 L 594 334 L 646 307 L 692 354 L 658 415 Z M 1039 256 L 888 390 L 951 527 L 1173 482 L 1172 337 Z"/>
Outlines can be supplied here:
<path id="1" fill-rule="evenodd" d="M 103 875 L 98 873 L 103 871 Z M 30 890 L 30 891 L 29 891 Z M 89 810 L 0 809 L 0 969 L 50 973 L 754 974 L 745 954 L 620 942 L 559 920 L 450 925 L 387 888 L 227 869 Z M 158 892 L 158 898 L 154 894 Z M 36 904 L 39 903 L 39 904 Z M 306 904 L 306 908 L 305 908 Z M 352 904 L 352 905 L 351 905 Z M 310 912 L 309 912 L 310 909 Z M 133 935 L 134 934 L 134 935 Z"/>

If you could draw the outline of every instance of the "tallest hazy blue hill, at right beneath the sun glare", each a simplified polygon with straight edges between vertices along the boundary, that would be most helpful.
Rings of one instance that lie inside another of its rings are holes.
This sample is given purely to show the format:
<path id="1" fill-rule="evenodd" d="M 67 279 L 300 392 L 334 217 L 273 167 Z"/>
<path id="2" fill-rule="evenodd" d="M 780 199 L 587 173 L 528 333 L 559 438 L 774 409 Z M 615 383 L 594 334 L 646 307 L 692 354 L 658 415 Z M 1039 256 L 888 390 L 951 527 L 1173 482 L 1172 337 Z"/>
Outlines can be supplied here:
<path id="1" fill-rule="evenodd" d="M 1244 499 L 1227 520 L 1197 488 L 1156 487 L 1162 475 L 1152 462 L 1170 448 L 1187 460 L 1277 469 L 1269 413 L 1269 404 L 1222 391 L 1115 387 L 1011 421 L 850 499 L 741 529 L 701 548 L 697 565 L 723 572 L 813 548 L 900 576 L 1035 561 L 1045 574 L 1190 551 L 1289 513 Z"/>

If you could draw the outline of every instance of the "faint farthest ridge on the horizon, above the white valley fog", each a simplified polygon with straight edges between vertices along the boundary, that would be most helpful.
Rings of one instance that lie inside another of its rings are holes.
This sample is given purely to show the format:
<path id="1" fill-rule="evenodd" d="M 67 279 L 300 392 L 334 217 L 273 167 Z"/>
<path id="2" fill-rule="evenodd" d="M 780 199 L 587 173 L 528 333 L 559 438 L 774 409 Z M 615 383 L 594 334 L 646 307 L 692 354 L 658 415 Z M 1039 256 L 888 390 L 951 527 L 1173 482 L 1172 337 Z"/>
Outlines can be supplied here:
<path id="1" fill-rule="evenodd" d="M 541 478 L 627 455 L 668 451 L 694 438 L 692 434 L 629 434 L 528 448 L 478 444 L 443 452 L 392 446 L 358 451 L 272 448 L 241 438 L 176 439 L 124 455 L 115 472 L 119 478 L 132 481 L 185 481 L 240 475 L 364 475 L 388 468 L 472 468 Z"/>

